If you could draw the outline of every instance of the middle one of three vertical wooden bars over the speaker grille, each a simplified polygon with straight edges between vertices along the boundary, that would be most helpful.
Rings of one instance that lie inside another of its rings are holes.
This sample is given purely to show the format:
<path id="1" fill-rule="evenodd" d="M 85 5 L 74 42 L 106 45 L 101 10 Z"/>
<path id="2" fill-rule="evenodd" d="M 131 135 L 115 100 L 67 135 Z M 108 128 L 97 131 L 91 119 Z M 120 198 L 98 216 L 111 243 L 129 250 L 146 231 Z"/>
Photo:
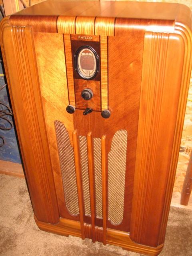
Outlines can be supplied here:
<path id="1" fill-rule="evenodd" d="M 92 241 L 95 242 L 95 186 L 94 186 L 94 157 L 93 157 L 93 138 L 92 132 L 87 134 L 87 151 L 88 151 L 88 168 L 89 168 L 89 190 L 90 190 L 90 206 L 91 206 L 91 228 Z"/>

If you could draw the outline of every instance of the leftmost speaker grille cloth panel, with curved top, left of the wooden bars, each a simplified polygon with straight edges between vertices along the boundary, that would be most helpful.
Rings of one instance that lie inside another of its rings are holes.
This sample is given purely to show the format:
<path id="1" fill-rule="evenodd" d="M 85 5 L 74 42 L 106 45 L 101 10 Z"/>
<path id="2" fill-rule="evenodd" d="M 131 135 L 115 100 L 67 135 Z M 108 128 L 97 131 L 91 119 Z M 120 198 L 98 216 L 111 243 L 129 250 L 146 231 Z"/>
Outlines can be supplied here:
<path id="1" fill-rule="evenodd" d="M 66 207 L 71 214 L 77 215 L 79 213 L 79 206 L 73 148 L 70 144 L 70 138 L 64 124 L 58 120 L 54 123 Z"/>

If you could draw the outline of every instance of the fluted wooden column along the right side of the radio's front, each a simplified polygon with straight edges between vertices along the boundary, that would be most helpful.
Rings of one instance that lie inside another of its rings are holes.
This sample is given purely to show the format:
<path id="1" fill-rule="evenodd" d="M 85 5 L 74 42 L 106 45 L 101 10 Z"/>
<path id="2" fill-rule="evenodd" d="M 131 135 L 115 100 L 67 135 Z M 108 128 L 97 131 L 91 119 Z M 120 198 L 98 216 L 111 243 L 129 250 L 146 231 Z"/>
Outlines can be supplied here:
<path id="1" fill-rule="evenodd" d="M 159 244 L 183 61 L 180 36 L 146 32 L 130 238 L 148 246 Z"/>

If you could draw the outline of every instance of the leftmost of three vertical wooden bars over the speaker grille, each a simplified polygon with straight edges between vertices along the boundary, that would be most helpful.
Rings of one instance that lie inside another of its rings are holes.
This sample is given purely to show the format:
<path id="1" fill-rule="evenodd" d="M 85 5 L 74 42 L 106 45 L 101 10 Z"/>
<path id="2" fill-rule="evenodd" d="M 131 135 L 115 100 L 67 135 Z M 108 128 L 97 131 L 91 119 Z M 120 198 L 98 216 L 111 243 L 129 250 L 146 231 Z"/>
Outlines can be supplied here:
<path id="1" fill-rule="evenodd" d="M 81 223 L 81 234 L 82 239 L 85 239 L 84 232 L 84 200 L 83 200 L 83 186 L 82 186 L 82 173 L 81 173 L 81 163 L 80 163 L 80 150 L 79 150 L 79 140 L 77 131 L 73 131 L 73 148 L 74 148 L 74 160 L 75 160 L 75 171 L 77 180 L 77 193 L 78 193 L 78 203 L 79 203 L 79 215 Z"/>

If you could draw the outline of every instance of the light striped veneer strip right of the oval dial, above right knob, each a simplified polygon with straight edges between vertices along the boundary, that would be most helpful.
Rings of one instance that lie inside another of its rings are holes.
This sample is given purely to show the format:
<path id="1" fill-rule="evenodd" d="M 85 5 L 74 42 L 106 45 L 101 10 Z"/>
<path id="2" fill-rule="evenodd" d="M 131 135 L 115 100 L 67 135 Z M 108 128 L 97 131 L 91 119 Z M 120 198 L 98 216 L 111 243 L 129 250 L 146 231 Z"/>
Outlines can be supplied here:
<path id="1" fill-rule="evenodd" d="M 101 51 L 101 108 L 108 109 L 108 39 L 100 36 Z"/>

